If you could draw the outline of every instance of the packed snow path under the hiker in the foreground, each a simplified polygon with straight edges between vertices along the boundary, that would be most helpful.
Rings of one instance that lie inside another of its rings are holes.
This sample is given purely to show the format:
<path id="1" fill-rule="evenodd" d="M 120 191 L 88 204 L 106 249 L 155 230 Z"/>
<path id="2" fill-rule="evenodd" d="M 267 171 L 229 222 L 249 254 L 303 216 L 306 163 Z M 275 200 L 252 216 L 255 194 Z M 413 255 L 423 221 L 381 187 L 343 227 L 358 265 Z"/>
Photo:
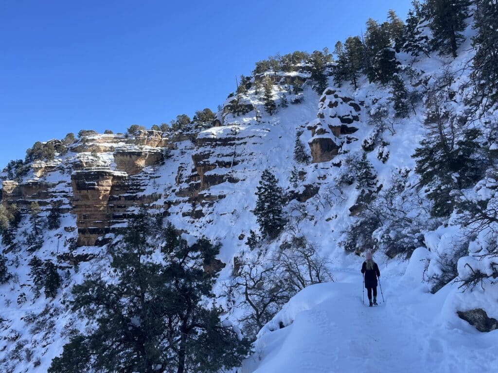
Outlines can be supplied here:
<path id="1" fill-rule="evenodd" d="M 371 308 L 366 291 L 362 304 L 360 271 L 335 274 L 336 282 L 297 294 L 263 329 L 243 373 L 496 372 L 498 331 L 441 316 L 451 287 L 433 295 L 387 275 L 386 303 Z"/>

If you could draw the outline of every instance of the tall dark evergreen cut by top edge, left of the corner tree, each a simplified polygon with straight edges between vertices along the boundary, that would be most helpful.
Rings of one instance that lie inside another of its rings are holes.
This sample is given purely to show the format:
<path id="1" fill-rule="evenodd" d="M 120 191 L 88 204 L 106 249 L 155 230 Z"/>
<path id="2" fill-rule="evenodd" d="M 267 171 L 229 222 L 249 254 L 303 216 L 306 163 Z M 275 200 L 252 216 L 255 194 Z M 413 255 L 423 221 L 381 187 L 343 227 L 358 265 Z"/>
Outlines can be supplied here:
<path id="1" fill-rule="evenodd" d="M 464 39 L 469 0 L 427 0 L 425 8 L 431 18 L 432 49 L 440 54 L 451 52 L 456 58 L 458 45 Z"/>

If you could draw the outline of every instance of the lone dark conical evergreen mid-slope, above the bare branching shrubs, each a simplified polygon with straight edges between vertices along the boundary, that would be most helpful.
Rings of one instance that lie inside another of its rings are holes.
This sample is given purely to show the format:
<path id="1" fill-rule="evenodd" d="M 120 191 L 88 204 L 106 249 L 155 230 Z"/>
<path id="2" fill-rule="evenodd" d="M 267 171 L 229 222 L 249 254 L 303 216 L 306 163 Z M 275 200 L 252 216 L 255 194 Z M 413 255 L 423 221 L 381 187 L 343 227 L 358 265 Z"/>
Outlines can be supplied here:
<path id="1" fill-rule="evenodd" d="M 254 215 L 264 237 L 275 238 L 285 225 L 283 218 L 283 190 L 278 180 L 269 169 L 263 171 L 259 187 Z"/>

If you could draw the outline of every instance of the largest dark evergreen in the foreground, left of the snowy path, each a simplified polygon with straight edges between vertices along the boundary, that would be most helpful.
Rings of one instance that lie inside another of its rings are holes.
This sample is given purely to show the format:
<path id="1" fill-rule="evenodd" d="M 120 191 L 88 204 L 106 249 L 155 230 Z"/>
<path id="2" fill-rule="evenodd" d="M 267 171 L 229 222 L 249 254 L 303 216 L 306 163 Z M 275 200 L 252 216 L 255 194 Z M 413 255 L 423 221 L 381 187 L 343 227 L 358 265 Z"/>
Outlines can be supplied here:
<path id="1" fill-rule="evenodd" d="M 204 267 L 219 245 L 189 245 L 168 225 L 163 258 L 155 259 L 137 219 L 114 250 L 115 279 L 95 276 L 73 287 L 72 310 L 82 310 L 95 328 L 73 337 L 48 372 L 216 373 L 240 366 L 248 341 L 209 305 L 217 273 Z"/>

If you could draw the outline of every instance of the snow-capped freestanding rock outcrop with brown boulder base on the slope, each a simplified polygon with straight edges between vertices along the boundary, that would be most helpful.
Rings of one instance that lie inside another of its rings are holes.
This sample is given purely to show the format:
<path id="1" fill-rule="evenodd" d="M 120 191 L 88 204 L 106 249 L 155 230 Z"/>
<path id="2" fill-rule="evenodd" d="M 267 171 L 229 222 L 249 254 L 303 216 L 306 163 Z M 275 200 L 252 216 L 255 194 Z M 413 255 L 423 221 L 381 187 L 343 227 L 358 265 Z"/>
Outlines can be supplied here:
<path id="1" fill-rule="evenodd" d="M 358 131 L 362 105 L 363 102 L 357 103 L 339 91 L 330 88 L 325 91 L 320 98 L 317 119 L 307 126 L 311 131 L 308 144 L 313 163 L 331 161 L 344 143 L 355 140 L 347 135 Z"/>

